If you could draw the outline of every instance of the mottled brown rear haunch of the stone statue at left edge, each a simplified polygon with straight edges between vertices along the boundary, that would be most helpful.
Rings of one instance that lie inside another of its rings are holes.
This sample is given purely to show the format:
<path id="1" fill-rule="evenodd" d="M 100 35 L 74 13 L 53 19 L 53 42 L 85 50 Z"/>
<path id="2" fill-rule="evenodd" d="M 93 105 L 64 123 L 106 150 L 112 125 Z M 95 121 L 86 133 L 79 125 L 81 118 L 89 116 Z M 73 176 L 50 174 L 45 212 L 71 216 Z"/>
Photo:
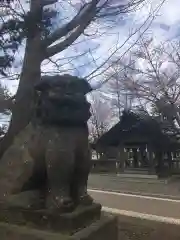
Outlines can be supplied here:
<path id="1" fill-rule="evenodd" d="M 11 194 L 19 193 L 33 173 L 34 159 L 27 148 L 32 132 L 30 124 L 16 136 L 0 160 L 0 202 Z"/>

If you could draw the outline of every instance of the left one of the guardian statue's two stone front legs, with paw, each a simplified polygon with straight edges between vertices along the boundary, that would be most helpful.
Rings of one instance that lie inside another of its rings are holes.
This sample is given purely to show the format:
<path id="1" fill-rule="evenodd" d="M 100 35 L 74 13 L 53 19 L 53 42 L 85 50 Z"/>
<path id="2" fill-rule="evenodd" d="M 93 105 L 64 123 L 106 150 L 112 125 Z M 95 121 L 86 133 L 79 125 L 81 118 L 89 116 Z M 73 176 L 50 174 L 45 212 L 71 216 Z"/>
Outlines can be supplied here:
<path id="1" fill-rule="evenodd" d="M 51 210 L 72 210 L 70 182 L 74 167 L 74 154 L 66 139 L 50 140 L 46 152 L 48 193 L 46 208 Z"/>

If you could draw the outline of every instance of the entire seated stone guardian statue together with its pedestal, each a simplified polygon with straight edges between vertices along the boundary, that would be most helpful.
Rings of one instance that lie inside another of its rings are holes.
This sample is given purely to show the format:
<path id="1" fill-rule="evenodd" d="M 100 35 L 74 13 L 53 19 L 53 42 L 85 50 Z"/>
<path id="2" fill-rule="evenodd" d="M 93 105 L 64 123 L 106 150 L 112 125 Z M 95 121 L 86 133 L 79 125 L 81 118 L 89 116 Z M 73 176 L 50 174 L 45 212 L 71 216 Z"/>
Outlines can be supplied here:
<path id="1" fill-rule="evenodd" d="M 116 240 L 115 221 L 87 193 L 90 85 L 66 75 L 36 89 L 36 114 L 0 162 L 1 239 Z"/>

